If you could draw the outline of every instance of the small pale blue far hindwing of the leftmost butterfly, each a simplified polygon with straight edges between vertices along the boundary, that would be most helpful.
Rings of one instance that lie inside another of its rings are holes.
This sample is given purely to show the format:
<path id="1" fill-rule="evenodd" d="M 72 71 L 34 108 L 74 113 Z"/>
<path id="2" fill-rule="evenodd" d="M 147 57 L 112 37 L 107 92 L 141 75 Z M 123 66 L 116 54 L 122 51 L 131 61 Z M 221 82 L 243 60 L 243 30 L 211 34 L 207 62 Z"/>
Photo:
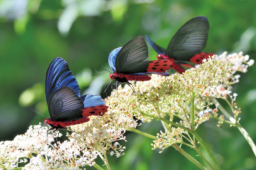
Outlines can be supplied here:
<path id="1" fill-rule="evenodd" d="M 100 95 L 86 94 L 81 97 L 84 107 L 105 105 L 105 100 Z"/>

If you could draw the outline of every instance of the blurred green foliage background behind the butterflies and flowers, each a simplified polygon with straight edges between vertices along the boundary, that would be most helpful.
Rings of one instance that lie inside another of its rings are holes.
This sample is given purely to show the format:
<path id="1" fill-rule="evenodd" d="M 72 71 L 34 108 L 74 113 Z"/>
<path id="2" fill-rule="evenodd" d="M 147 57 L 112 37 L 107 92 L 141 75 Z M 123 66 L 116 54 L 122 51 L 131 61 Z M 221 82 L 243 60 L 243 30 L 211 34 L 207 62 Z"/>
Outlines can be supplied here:
<path id="1" fill-rule="evenodd" d="M 195 16 L 206 16 L 210 23 L 203 52 L 243 51 L 255 60 L 255 7 L 256 1 L 242 0 L 1 0 L 0 141 L 12 140 L 29 125 L 43 122 L 31 107 L 49 117 L 44 83 L 48 65 L 55 57 L 67 61 L 82 93 L 104 98 L 102 87 L 109 74 L 94 70 L 102 71 L 98 64 L 111 70 L 107 59 L 114 48 L 145 34 L 166 47 L 177 29 Z M 151 47 L 149 53 L 149 59 L 156 59 Z M 234 84 L 232 92 L 238 93 L 236 102 L 242 108 L 240 123 L 256 142 L 256 69 L 252 66 L 248 70 L 239 73 L 240 82 Z M 217 120 L 210 120 L 197 131 L 221 167 L 255 169 L 255 155 L 239 130 L 216 125 Z M 138 129 L 152 135 L 164 130 L 158 121 Z M 109 158 L 112 170 L 198 169 L 172 147 L 160 154 L 160 150 L 151 150 L 151 139 L 130 132 L 126 139 L 128 142 L 121 142 L 126 146 L 125 155 Z M 183 149 L 196 157 L 187 146 Z M 100 159 L 96 161 L 103 165 Z"/>

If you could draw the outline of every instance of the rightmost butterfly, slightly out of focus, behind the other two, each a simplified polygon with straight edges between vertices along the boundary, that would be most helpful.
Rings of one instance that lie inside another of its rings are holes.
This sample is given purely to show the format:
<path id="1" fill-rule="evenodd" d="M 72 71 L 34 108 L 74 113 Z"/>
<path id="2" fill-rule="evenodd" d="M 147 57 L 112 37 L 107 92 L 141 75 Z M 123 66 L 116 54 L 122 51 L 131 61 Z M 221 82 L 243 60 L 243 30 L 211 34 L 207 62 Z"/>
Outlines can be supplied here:
<path id="1" fill-rule="evenodd" d="M 194 67 L 186 62 L 201 64 L 203 59 L 214 54 L 201 53 L 205 48 L 209 31 L 209 22 L 206 17 L 199 16 L 190 19 L 174 34 L 167 49 L 151 41 L 146 35 L 149 44 L 158 53 L 157 59 L 169 59 L 173 64 L 171 68 L 182 74 L 184 67 Z"/>

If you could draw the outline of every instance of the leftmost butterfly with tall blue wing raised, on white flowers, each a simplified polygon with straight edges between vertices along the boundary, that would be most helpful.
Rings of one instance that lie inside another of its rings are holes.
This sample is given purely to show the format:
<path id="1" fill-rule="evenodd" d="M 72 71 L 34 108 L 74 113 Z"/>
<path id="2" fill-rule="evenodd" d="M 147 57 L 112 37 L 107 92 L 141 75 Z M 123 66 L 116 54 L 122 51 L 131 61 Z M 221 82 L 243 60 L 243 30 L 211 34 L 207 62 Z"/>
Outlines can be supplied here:
<path id="1" fill-rule="evenodd" d="M 108 106 L 100 95 L 81 97 L 78 83 L 65 60 L 55 58 L 49 65 L 45 78 L 45 96 L 50 118 L 44 123 L 54 131 L 67 126 L 88 122 L 91 115 L 104 115 Z"/>

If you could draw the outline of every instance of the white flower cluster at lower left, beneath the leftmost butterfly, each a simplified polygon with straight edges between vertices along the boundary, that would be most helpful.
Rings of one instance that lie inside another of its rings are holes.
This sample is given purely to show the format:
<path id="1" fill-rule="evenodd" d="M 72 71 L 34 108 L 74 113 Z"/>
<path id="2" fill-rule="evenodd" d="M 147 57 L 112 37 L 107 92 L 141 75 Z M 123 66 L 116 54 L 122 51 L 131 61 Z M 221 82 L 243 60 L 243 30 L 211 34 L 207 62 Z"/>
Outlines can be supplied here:
<path id="1" fill-rule="evenodd" d="M 69 141 L 55 144 L 52 134 L 47 135 L 47 127 L 30 126 L 25 135 L 0 143 L 0 169 L 15 168 L 28 160 L 23 169 L 81 169 L 93 166 L 94 159 L 107 150 L 119 157 L 124 154 L 125 147 L 118 141 L 125 140 L 125 128 L 137 125 L 132 117 L 123 116 L 112 112 L 91 116 L 89 122 L 71 126 L 80 133 L 73 132 L 72 137 L 67 133 Z M 58 131 L 53 134 L 62 136 Z"/>

